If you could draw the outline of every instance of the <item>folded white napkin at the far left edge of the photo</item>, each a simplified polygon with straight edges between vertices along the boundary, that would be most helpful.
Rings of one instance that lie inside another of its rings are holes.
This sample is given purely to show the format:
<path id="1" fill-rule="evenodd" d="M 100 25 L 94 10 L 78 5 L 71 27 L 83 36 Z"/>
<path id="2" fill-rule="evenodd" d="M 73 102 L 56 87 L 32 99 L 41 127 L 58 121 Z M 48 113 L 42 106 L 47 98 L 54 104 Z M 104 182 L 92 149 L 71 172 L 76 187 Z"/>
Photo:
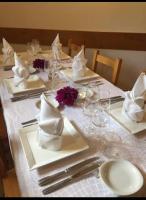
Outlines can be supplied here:
<path id="1" fill-rule="evenodd" d="M 3 62 L 8 64 L 12 63 L 14 59 L 14 49 L 13 47 L 6 41 L 5 38 L 2 39 L 3 41 Z"/>

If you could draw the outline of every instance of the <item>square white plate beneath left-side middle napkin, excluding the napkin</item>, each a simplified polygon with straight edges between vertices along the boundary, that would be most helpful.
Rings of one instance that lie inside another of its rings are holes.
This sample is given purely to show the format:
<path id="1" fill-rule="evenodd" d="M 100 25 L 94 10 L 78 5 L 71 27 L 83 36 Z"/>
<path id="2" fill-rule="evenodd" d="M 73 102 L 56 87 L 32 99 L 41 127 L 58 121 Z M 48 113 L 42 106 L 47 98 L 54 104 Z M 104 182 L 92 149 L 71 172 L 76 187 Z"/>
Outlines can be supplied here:
<path id="1" fill-rule="evenodd" d="M 16 87 L 13 81 L 14 81 L 13 78 L 4 79 L 4 82 L 7 85 L 9 93 L 13 95 L 32 92 L 32 91 L 41 91 L 46 89 L 44 82 L 37 75 L 30 75 L 30 77 L 28 78 L 27 89 L 21 89 L 19 87 Z"/>

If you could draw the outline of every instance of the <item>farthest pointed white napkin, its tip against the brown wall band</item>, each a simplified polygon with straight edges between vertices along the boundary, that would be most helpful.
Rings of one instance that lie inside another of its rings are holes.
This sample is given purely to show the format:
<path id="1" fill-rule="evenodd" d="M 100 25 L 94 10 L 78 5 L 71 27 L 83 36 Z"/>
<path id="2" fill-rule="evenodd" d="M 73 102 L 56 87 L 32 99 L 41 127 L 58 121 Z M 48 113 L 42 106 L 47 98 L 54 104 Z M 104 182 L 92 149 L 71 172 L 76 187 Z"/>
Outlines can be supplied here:
<path id="1" fill-rule="evenodd" d="M 52 46 L 53 58 L 59 60 L 62 54 L 62 44 L 60 43 L 59 33 L 57 34 L 51 46 Z"/>

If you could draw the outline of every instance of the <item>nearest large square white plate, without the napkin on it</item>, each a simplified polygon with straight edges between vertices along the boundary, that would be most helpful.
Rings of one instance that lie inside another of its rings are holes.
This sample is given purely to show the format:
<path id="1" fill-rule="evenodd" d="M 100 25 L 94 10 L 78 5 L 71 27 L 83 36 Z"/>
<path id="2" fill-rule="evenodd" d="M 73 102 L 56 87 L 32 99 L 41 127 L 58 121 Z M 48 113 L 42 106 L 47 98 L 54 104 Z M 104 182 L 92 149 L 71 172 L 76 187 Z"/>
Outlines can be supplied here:
<path id="1" fill-rule="evenodd" d="M 89 148 L 81 133 L 64 118 L 63 144 L 59 151 L 41 148 L 37 143 L 38 125 L 19 129 L 19 137 L 30 170 L 67 158 Z"/>

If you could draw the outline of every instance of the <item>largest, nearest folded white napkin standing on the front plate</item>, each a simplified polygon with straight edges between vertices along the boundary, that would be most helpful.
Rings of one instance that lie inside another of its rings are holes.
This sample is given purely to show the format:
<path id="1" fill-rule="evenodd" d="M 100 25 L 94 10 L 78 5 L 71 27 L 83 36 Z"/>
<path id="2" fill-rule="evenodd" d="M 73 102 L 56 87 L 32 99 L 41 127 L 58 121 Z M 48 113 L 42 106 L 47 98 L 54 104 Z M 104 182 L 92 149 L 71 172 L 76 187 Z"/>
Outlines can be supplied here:
<path id="1" fill-rule="evenodd" d="M 48 150 L 60 150 L 64 120 L 60 112 L 47 100 L 45 94 L 41 97 L 40 113 L 38 119 L 38 143 Z"/>

